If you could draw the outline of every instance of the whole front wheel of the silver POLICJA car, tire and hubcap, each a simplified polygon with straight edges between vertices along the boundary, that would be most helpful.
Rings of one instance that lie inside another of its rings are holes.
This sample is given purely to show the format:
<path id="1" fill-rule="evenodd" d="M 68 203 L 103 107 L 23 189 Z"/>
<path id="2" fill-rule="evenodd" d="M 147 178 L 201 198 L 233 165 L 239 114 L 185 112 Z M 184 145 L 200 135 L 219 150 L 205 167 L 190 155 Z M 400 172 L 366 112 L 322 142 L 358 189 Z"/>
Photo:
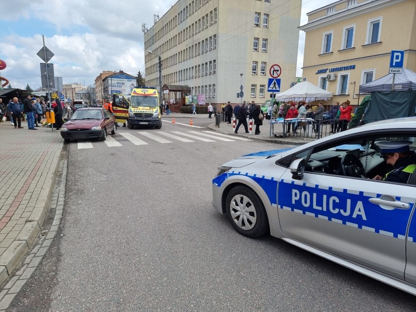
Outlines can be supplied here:
<path id="1" fill-rule="evenodd" d="M 258 237 L 269 231 L 269 220 L 263 203 L 249 187 L 233 187 L 226 200 L 227 217 L 234 229 L 247 237 Z"/>

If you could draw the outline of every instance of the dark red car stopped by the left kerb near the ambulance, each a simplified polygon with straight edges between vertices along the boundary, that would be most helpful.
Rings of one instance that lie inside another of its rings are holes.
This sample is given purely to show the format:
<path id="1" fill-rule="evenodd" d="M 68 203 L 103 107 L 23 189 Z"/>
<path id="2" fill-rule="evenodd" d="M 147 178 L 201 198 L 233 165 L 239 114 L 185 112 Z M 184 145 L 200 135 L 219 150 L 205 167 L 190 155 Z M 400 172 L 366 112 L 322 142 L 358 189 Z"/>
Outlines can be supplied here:
<path id="1" fill-rule="evenodd" d="M 61 127 L 65 143 L 71 139 L 101 139 L 108 133 L 116 134 L 115 119 L 102 107 L 79 108 Z"/>

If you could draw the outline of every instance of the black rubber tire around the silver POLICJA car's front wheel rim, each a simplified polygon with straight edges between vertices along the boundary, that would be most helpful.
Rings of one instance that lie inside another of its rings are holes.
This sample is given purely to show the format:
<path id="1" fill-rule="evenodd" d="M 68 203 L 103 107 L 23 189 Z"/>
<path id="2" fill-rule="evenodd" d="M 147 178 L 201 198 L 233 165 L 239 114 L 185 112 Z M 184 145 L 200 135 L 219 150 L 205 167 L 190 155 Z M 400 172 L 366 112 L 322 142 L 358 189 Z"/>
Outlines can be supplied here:
<path id="1" fill-rule="evenodd" d="M 254 207 L 256 221 L 251 229 L 242 229 L 236 224 L 236 221 L 231 216 L 231 201 L 235 196 L 238 195 L 247 197 L 249 199 L 249 203 Z M 269 219 L 267 217 L 266 209 L 264 208 L 260 198 L 250 187 L 233 187 L 227 195 L 226 205 L 226 212 L 229 222 L 231 223 L 232 227 L 240 234 L 250 238 L 255 238 L 269 232 Z"/>

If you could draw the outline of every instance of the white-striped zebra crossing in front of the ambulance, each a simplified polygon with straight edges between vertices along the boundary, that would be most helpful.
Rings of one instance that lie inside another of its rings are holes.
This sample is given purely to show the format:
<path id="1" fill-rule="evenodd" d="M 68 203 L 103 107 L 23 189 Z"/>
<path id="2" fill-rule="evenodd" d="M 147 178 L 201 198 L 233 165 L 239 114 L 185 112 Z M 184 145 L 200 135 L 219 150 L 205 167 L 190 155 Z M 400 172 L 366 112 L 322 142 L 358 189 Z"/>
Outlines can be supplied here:
<path id="1" fill-rule="evenodd" d="M 122 139 L 123 144 L 134 144 L 134 145 L 148 145 L 152 143 L 169 144 L 175 142 L 183 143 L 194 143 L 197 141 L 202 142 L 234 142 L 234 141 L 253 141 L 248 138 L 237 137 L 224 133 L 218 133 L 215 131 L 137 131 L 131 132 L 118 132 L 114 137 L 108 135 L 104 144 L 108 147 L 120 147 L 123 146 L 117 139 Z M 125 143 L 128 141 L 129 143 Z M 94 148 L 91 141 L 80 140 L 77 142 L 78 149 L 83 148 Z"/>

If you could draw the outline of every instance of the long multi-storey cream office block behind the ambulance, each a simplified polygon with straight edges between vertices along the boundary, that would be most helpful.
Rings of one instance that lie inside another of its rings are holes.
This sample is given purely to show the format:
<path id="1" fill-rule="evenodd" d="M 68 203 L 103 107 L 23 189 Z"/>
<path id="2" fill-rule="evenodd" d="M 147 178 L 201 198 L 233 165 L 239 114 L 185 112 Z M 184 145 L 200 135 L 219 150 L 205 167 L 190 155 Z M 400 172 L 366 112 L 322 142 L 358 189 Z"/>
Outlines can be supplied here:
<path id="1" fill-rule="evenodd" d="M 206 103 L 238 103 L 243 85 L 243 100 L 264 103 L 272 64 L 282 90 L 295 81 L 300 9 L 301 0 L 178 0 L 145 33 L 146 84 L 159 89 L 161 56 L 163 85 L 187 85 Z"/>

